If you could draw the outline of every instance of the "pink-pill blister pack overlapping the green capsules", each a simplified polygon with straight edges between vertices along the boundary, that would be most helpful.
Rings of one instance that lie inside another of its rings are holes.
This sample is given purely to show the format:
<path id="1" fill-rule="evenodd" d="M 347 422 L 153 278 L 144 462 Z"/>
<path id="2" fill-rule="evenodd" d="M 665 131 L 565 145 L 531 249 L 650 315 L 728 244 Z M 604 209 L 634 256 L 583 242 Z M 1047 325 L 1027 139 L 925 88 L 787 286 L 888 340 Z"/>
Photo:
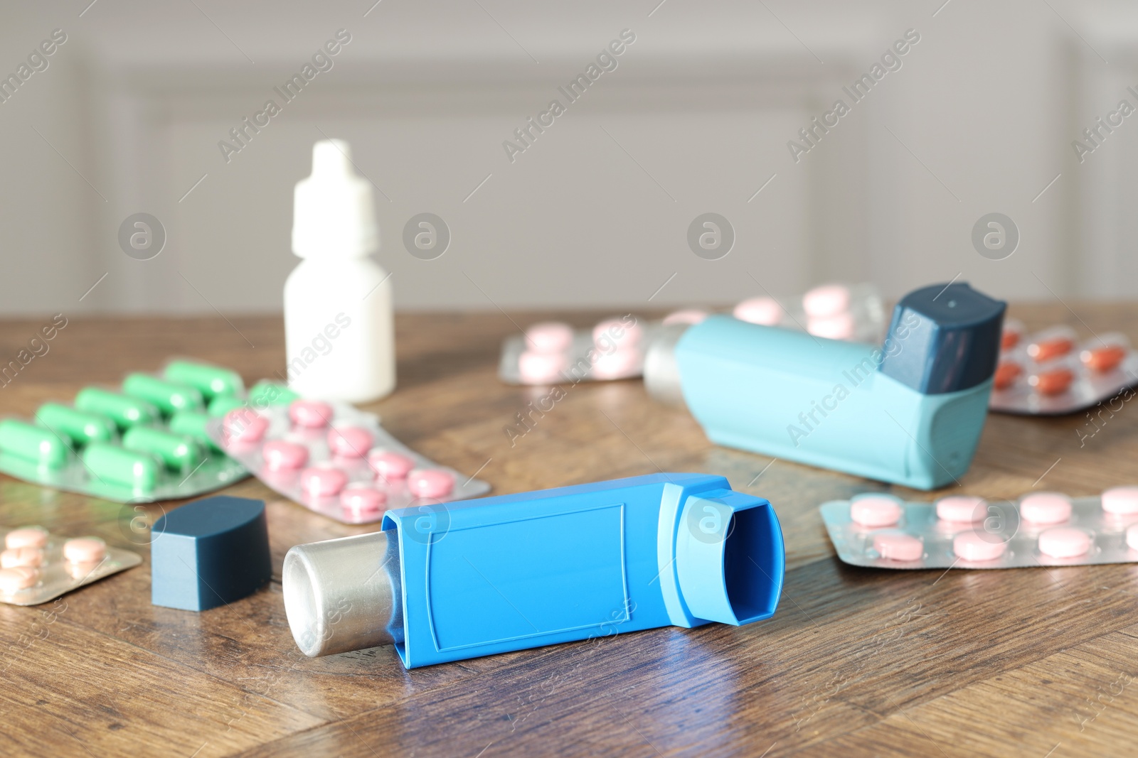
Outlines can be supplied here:
<path id="1" fill-rule="evenodd" d="M 231 458 L 284 497 L 345 524 L 386 510 L 437 506 L 489 491 L 391 436 L 374 414 L 340 402 L 296 399 L 241 407 L 207 426 Z"/>

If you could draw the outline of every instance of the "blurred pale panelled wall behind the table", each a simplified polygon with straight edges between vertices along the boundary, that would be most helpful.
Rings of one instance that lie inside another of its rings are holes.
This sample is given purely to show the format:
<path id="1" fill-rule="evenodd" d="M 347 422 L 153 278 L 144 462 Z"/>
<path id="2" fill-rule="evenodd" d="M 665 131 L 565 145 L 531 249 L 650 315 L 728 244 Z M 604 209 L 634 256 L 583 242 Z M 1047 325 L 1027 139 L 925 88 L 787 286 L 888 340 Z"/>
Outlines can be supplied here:
<path id="1" fill-rule="evenodd" d="M 323 135 L 381 191 L 403 309 L 726 303 L 827 280 L 896 297 L 956 276 L 1012 299 L 1138 295 L 1138 116 L 1082 163 L 1071 147 L 1138 107 L 1132 3 L 89 2 L 0 8 L 0 74 L 67 34 L 0 102 L 3 314 L 279 310 L 292 185 Z M 218 141 L 340 28 L 333 67 L 226 163 Z M 511 163 L 503 141 L 625 28 L 618 67 Z M 853 103 L 843 85 L 910 28 Z M 787 141 L 839 98 L 850 113 L 795 163 Z M 150 260 L 117 242 L 140 211 L 167 233 Z M 452 234 L 435 260 L 402 242 L 423 211 Z M 686 241 L 708 211 L 736 234 L 719 260 Z M 1004 260 L 972 244 L 992 211 L 1021 234 Z"/>

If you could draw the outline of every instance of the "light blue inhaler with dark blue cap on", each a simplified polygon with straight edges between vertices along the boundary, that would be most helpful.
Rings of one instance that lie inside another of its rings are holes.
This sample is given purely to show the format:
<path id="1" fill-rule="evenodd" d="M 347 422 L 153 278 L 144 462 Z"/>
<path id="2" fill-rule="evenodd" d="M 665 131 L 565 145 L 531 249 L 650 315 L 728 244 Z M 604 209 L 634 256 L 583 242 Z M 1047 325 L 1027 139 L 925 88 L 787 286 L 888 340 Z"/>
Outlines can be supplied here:
<path id="1" fill-rule="evenodd" d="M 644 382 L 718 444 L 932 490 L 972 464 L 1005 308 L 964 283 L 916 290 L 881 348 L 712 316 L 666 328 Z"/>

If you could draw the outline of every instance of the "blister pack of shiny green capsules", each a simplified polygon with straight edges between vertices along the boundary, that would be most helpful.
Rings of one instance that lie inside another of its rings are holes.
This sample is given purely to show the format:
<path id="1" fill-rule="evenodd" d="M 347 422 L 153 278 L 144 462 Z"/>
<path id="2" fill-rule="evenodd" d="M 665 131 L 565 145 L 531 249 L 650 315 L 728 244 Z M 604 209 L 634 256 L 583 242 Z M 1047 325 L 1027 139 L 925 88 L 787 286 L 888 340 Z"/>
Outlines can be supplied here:
<path id="1" fill-rule="evenodd" d="M 71 405 L 46 402 L 31 422 L 0 420 L 0 472 L 117 502 L 190 498 L 249 475 L 211 439 L 212 418 L 295 397 L 272 382 L 246 393 L 236 372 L 172 360 L 118 390 L 89 386 Z"/>

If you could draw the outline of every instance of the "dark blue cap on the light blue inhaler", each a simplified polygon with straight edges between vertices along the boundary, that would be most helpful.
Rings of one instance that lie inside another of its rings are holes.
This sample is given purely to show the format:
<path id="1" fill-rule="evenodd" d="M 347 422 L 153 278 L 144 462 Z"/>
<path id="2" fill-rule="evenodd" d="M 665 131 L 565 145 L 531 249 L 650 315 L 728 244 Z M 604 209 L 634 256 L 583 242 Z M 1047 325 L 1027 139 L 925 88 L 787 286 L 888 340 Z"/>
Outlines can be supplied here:
<path id="1" fill-rule="evenodd" d="M 922 394 L 957 392 L 996 373 L 1007 303 L 966 283 L 933 284 L 893 308 L 881 370 Z"/>

